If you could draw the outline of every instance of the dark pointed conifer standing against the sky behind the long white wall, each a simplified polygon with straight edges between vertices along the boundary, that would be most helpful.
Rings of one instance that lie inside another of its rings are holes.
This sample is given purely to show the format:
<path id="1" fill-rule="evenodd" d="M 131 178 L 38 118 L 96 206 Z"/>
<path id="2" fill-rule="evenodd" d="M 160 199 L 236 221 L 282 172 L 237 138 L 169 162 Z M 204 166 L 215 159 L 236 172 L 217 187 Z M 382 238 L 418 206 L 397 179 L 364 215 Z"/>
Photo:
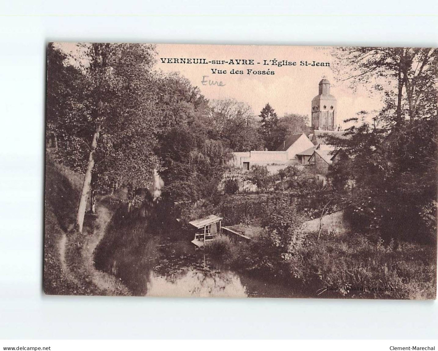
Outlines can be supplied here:
<path id="1" fill-rule="evenodd" d="M 260 133 L 265 148 L 269 151 L 276 150 L 285 140 L 286 127 L 279 123 L 279 118 L 269 103 L 261 110 L 259 117 L 261 117 Z"/>

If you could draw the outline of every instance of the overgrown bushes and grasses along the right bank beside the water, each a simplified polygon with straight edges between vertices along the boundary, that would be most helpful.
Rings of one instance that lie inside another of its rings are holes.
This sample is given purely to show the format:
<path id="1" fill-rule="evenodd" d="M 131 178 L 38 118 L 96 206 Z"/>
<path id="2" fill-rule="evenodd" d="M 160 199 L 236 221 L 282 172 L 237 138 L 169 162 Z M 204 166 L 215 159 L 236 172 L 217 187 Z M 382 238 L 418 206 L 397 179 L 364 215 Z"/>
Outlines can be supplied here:
<path id="1" fill-rule="evenodd" d="M 436 247 L 392 239 L 376 230 L 336 235 L 303 232 L 303 217 L 289 198 L 277 194 L 265 207 L 251 241 L 232 242 L 223 235 L 205 251 L 229 267 L 291 284 L 306 296 L 321 298 L 434 298 Z"/>

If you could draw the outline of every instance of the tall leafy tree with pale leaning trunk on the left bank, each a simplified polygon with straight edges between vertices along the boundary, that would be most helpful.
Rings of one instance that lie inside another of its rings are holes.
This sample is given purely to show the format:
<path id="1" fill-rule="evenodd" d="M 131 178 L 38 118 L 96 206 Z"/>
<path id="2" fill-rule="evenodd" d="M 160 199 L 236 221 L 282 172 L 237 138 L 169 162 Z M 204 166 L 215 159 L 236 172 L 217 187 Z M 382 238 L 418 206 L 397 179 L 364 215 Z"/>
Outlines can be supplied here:
<path id="1" fill-rule="evenodd" d="M 125 185 L 131 199 L 135 189 L 148 187 L 157 168 L 153 153 L 154 50 L 143 44 L 94 43 L 87 48 L 89 64 L 85 72 L 90 81 L 89 103 L 95 132 L 78 208 L 79 231 L 95 161 L 100 188 L 107 190 L 115 183 Z"/>

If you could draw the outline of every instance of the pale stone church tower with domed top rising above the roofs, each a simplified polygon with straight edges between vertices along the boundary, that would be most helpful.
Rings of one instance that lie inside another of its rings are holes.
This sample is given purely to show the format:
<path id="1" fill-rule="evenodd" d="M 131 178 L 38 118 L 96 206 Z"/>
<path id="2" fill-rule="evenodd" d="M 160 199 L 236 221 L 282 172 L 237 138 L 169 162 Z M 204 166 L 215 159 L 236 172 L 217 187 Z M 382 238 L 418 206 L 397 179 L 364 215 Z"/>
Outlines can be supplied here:
<path id="1" fill-rule="evenodd" d="M 319 94 L 312 99 L 312 128 L 335 130 L 336 98 L 330 95 L 330 82 L 323 78 L 319 82 Z"/>

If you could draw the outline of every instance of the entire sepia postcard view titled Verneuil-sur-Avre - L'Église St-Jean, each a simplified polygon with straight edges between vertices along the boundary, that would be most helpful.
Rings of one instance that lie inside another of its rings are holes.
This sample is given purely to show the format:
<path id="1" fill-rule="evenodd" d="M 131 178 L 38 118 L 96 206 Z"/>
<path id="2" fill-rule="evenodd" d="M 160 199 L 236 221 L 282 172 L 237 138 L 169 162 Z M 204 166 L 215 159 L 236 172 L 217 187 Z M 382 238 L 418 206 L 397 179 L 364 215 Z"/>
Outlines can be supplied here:
<path id="1" fill-rule="evenodd" d="M 45 294 L 436 298 L 438 49 L 46 53 Z"/>

